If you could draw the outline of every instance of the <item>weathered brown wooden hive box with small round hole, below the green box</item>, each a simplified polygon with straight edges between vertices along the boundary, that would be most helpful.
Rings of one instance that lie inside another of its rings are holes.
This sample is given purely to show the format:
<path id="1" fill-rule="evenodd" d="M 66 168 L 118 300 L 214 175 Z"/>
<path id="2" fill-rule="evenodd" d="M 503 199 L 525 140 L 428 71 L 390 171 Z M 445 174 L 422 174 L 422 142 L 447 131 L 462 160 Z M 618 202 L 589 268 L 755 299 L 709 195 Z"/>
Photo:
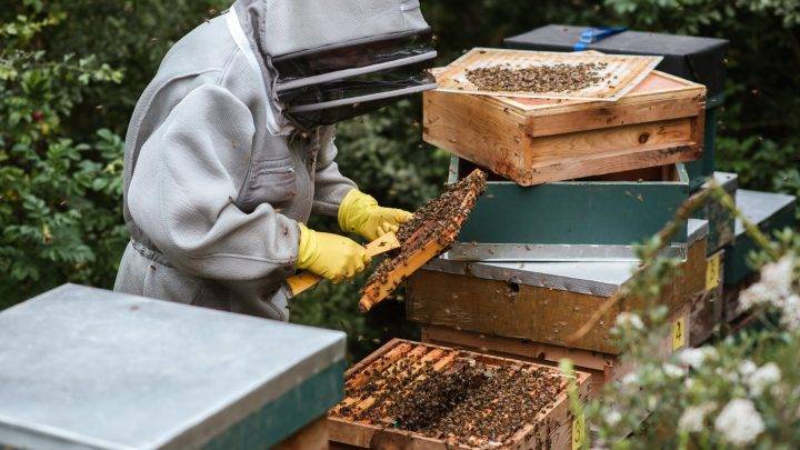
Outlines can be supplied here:
<path id="1" fill-rule="evenodd" d="M 692 243 L 680 273 L 664 286 L 661 303 L 670 313 L 706 290 L 706 239 Z M 408 281 L 407 317 L 422 324 L 566 346 L 607 297 L 556 290 L 513 281 L 488 280 L 420 270 Z M 619 301 L 589 333 L 569 347 L 618 354 L 610 336 L 617 317 L 643 307 L 640 299 Z"/>

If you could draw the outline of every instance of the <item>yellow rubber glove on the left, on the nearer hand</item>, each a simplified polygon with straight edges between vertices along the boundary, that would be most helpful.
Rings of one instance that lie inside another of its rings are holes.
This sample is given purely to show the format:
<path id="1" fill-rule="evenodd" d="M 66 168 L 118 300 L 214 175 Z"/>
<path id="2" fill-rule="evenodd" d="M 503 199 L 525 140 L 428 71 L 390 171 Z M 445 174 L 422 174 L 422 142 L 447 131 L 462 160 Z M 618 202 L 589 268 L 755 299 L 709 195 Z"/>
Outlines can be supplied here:
<path id="1" fill-rule="evenodd" d="M 370 259 L 367 250 L 352 239 L 310 230 L 300 223 L 298 269 L 338 283 L 364 270 Z"/>

